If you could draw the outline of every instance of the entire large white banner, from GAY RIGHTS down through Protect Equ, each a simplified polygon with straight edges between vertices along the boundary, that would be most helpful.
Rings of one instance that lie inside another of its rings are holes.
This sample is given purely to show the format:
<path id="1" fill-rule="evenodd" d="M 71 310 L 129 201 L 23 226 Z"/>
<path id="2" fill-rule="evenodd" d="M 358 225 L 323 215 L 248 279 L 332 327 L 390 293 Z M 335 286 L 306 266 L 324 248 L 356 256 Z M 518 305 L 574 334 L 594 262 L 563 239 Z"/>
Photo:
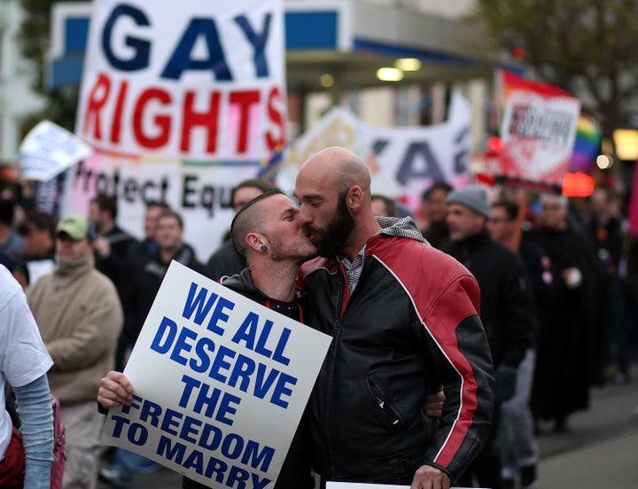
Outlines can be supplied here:
<path id="1" fill-rule="evenodd" d="M 283 150 L 284 49 L 283 0 L 94 0 L 75 133 L 97 156 L 74 169 L 64 212 L 108 187 L 141 237 L 144 203 L 163 195 L 206 260 L 232 187 Z"/>

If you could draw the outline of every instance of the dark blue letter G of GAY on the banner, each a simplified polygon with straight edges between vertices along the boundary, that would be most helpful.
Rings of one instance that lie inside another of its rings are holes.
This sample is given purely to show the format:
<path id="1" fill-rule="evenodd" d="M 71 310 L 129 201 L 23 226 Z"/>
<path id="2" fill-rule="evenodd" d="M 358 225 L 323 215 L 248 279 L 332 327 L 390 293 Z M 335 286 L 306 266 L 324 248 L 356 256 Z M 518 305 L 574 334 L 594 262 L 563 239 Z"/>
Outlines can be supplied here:
<path id="1" fill-rule="evenodd" d="M 149 57 L 151 54 L 151 43 L 149 41 L 127 36 L 126 45 L 133 48 L 135 51 L 135 54 L 130 59 L 118 58 L 113 52 L 111 46 L 113 28 L 115 27 L 115 23 L 118 19 L 124 16 L 133 19 L 138 26 L 151 25 L 149 19 L 141 10 L 127 4 L 118 5 L 113 9 L 113 12 L 111 12 L 111 15 L 105 22 L 105 27 L 102 31 L 102 50 L 104 50 L 106 59 L 108 59 L 108 62 L 111 63 L 114 68 L 122 71 L 136 71 L 143 69 L 149 64 Z"/>

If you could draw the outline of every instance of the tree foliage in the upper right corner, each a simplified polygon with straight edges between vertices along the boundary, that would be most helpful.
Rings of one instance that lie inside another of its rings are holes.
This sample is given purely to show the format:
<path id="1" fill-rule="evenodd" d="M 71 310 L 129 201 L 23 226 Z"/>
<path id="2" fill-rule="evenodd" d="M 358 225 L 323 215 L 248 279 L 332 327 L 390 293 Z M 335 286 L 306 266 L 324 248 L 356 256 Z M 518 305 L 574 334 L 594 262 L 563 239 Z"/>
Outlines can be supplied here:
<path id="1" fill-rule="evenodd" d="M 638 89 L 638 0 L 477 0 L 473 15 L 499 48 L 525 49 L 538 76 L 626 126 Z"/>

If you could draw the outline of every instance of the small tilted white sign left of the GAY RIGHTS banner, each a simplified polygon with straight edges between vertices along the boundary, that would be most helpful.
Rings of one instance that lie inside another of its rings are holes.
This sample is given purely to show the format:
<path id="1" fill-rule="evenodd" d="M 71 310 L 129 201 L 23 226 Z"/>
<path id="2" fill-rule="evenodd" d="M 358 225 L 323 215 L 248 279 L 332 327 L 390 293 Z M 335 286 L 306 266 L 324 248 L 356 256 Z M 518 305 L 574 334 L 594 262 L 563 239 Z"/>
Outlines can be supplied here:
<path id="1" fill-rule="evenodd" d="M 51 178 L 87 158 L 93 150 L 88 144 L 50 120 L 31 129 L 19 147 L 22 178 L 49 182 Z"/>

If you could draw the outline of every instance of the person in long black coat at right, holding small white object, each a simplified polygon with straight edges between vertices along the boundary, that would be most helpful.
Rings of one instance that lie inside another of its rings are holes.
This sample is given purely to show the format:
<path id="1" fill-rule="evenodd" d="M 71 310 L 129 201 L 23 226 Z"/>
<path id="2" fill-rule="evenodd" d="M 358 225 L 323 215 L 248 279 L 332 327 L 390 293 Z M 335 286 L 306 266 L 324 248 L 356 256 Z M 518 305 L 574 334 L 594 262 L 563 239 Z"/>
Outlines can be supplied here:
<path id="1" fill-rule="evenodd" d="M 539 223 L 529 237 L 549 256 L 553 287 L 541 310 L 532 407 L 534 415 L 564 431 L 567 417 L 589 406 L 600 356 L 604 278 L 594 247 L 568 219 L 566 198 L 542 196 Z"/>

